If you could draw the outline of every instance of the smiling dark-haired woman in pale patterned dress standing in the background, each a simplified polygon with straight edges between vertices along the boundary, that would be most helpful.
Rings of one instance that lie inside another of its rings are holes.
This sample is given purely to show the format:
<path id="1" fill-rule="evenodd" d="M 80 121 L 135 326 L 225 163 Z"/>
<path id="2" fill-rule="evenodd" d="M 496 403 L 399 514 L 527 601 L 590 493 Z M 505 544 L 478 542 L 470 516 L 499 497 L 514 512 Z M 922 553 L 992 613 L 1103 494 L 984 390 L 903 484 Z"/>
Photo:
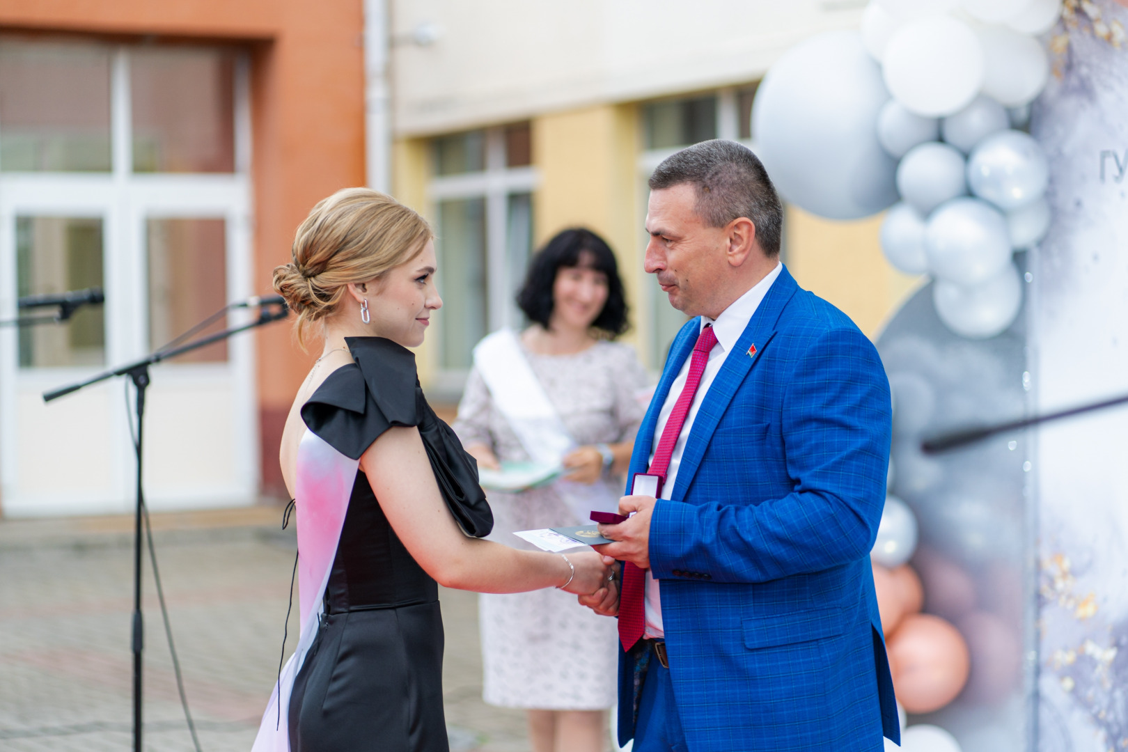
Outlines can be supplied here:
<path id="1" fill-rule="evenodd" d="M 506 409 L 514 392 L 525 399 L 531 391 L 540 402 L 523 413 L 553 413 L 566 437 L 563 483 L 491 492 L 490 538 L 511 545 L 519 530 L 590 524 L 588 511 L 617 511 L 617 475 L 631 460 L 646 387 L 634 351 L 610 342 L 627 328 L 627 304 L 615 255 L 594 232 L 564 230 L 549 240 L 517 302 L 530 326 L 479 344 L 453 424 L 481 467 L 537 459 L 541 448 Z M 485 347 L 499 338 L 502 350 Z M 543 591 L 483 595 L 481 622 L 486 702 L 528 710 L 534 752 L 602 752 L 606 709 L 616 699 L 615 620 Z"/>

